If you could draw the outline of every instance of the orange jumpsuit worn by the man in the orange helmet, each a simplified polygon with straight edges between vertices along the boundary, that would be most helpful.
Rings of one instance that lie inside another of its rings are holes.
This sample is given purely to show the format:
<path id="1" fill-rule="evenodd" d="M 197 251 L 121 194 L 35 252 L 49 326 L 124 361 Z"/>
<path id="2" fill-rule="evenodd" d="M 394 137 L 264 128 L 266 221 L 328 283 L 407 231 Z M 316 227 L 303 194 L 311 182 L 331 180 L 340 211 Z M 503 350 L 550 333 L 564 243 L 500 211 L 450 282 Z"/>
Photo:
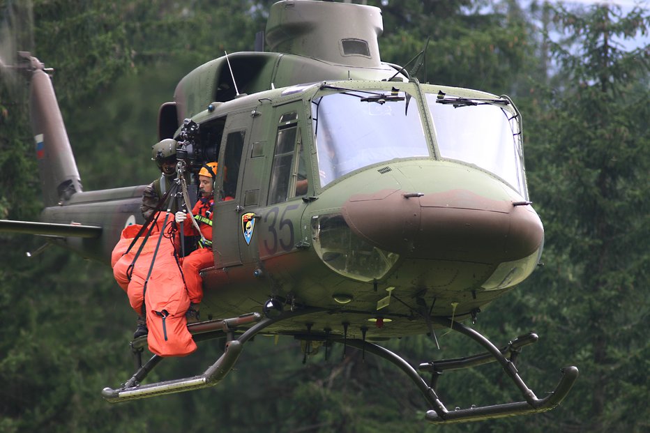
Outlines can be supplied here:
<path id="1" fill-rule="evenodd" d="M 190 254 L 183 259 L 183 278 L 188 287 L 188 295 L 192 303 L 201 303 L 203 299 L 203 278 L 199 275 L 199 271 L 210 266 L 214 266 L 214 256 L 212 253 L 212 208 L 214 205 L 213 199 L 201 198 L 197 204 L 192 208 L 192 215 L 199 224 L 199 229 L 206 243 L 204 244 L 199 240 L 199 248 L 190 252 Z M 186 236 L 198 236 L 196 227 L 188 219 L 183 222 L 183 234 Z"/>

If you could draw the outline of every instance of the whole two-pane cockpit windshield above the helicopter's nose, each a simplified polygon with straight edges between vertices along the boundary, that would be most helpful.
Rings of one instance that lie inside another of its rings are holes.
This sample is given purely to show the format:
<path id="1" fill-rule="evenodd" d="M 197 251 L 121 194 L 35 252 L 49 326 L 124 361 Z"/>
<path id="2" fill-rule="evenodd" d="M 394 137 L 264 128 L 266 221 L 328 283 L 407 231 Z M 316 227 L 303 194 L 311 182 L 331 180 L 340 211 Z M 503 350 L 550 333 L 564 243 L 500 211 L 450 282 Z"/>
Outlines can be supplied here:
<path id="1" fill-rule="evenodd" d="M 521 116 L 507 97 L 451 96 L 423 85 L 428 114 L 407 91 L 338 89 L 312 100 L 322 188 L 369 165 L 404 158 L 431 158 L 423 123 L 431 124 L 436 159 L 479 167 L 527 198 Z M 429 89 L 430 88 L 430 89 Z"/>

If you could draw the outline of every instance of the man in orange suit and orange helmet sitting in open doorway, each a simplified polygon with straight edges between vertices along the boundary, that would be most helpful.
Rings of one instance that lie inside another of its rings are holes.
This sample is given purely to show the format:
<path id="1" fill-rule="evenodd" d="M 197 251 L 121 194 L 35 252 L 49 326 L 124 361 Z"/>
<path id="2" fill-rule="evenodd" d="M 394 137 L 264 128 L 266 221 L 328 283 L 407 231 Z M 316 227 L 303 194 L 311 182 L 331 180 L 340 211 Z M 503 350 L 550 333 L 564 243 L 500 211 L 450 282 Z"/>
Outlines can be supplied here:
<path id="1" fill-rule="evenodd" d="M 183 278 L 190 296 L 190 309 L 188 319 L 197 320 L 199 317 L 199 303 L 203 298 L 203 279 L 199 272 L 202 269 L 214 265 L 212 254 L 212 213 L 214 206 L 214 180 L 217 175 L 217 163 L 208 162 L 199 171 L 199 194 L 192 215 L 199 225 L 203 238 L 199 240 L 198 248 L 183 259 Z M 176 212 L 176 223 L 183 227 L 183 234 L 186 236 L 198 236 L 196 227 L 191 221 L 186 221 L 188 215 L 179 211 Z"/>

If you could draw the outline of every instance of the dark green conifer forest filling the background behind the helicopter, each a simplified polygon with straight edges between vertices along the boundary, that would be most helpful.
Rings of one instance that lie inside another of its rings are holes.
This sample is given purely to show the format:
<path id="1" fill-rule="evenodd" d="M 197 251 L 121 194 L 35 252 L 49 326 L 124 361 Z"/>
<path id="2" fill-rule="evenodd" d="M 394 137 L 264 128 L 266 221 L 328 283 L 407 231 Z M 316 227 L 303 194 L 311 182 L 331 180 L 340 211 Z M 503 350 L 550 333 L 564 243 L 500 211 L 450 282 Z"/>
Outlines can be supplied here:
<path id="1" fill-rule="evenodd" d="M 192 68 L 253 49 L 272 1 L 0 0 L 0 56 L 30 50 L 54 86 L 86 190 L 149 183 L 156 116 Z M 381 4 L 383 3 L 383 4 Z M 382 59 L 430 36 L 421 81 L 511 96 L 524 119 L 531 198 L 545 224 L 538 270 L 478 317 L 504 344 L 540 341 L 518 367 L 537 395 L 577 365 L 553 411 L 438 427 L 397 369 L 349 353 L 303 365 L 299 344 L 260 337 L 216 388 L 108 404 L 133 372 L 133 313 L 108 268 L 0 235 L 0 432 L 647 432 L 650 430 L 650 48 L 647 8 L 513 0 L 368 1 Z M 647 3 L 646 5 L 647 6 Z M 426 70 L 426 76 L 423 76 Z M 36 220 L 40 188 L 27 86 L 0 75 L 0 218 Z M 412 364 L 480 351 L 445 335 L 389 343 Z M 350 352 L 350 351 L 349 351 Z M 153 379 L 204 371 L 203 344 Z M 451 407 L 519 400 L 494 364 L 445 374 Z"/>

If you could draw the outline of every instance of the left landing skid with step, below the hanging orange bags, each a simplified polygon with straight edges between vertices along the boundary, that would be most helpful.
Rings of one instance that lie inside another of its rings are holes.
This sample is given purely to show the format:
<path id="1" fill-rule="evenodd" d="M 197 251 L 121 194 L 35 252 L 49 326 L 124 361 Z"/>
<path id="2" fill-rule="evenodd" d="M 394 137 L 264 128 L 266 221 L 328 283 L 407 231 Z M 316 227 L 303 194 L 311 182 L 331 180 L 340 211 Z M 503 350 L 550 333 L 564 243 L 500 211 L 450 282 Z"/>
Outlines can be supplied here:
<path id="1" fill-rule="evenodd" d="M 156 367 L 156 365 L 158 365 L 162 360 L 162 356 L 153 355 L 146 363 L 144 363 L 144 365 L 139 367 L 133 376 L 126 381 L 126 383 L 123 383 L 120 388 L 104 388 L 102 390 L 102 396 L 108 402 L 117 403 L 215 386 L 226 377 L 230 370 L 232 370 L 232 367 L 239 359 L 239 355 L 243 349 L 243 344 L 248 342 L 252 337 L 255 337 L 257 333 L 278 321 L 300 316 L 302 314 L 310 314 L 316 311 L 317 310 L 315 309 L 305 309 L 297 312 L 283 312 L 279 317 L 264 319 L 262 319 L 262 314 L 252 313 L 235 317 L 234 319 L 223 319 L 191 324 L 188 326 L 188 329 L 190 329 L 190 332 L 192 332 L 197 341 L 207 340 L 209 337 L 212 337 L 211 334 L 214 333 L 217 333 L 218 336 L 225 334 L 228 340 L 226 342 L 224 354 L 222 354 L 213 365 L 208 367 L 203 374 L 194 377 L 186 377 L 184 379 L 174 379 L 141 385 L 139 382 L 142 381 L 146 375 L 153 370 L 153 367 Z M 245 330 L 238 337 L 235 337 L 236 326 L 250 324 L 252 322 L 257 323 Z"/>

